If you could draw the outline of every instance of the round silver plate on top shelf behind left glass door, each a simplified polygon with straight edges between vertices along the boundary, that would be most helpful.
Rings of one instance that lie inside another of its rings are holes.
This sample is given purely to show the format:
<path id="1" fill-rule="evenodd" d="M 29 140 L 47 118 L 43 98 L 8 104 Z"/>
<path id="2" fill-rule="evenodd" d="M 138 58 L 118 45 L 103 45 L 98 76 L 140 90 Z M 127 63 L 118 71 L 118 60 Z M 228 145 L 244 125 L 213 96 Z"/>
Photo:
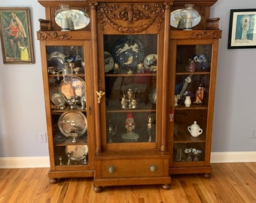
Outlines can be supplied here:
<path id="1" fill-rule="evenodd" d="M 50 54 L 48 66 L 53 67 L 54 71 L 61 72 L 65 67 L 65 55 L 57 51 Z"/>

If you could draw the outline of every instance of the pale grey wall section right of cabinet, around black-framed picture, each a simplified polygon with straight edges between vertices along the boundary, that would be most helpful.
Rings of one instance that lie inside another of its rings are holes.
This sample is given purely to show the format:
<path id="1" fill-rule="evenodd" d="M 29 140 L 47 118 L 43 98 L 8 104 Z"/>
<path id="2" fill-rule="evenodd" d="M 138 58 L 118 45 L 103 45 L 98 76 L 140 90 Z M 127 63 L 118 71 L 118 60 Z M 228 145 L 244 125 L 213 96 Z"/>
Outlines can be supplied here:
<path id="1" fill-rule="evenodd" d="M 256 8 L 251 0 L 219 0 L 212 6 L 212 17 L 220 17 L 222 38 L 219 44 L 215 119 L 212 151 L 256 151 L 255 76 L 256 49 L 227 50 L 230 9 Z"/>

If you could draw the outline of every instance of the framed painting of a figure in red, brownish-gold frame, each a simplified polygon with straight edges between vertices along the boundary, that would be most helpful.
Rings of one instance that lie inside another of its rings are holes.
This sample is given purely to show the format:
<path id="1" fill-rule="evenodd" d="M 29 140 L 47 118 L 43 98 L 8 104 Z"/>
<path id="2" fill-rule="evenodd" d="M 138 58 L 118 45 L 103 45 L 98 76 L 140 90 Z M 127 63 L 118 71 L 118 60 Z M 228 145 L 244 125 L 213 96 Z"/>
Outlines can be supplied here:
<path id="1" fill-rule="evenodd" d="M 4 63 L 34 63 L 29 8 L 0 8 Z"/>

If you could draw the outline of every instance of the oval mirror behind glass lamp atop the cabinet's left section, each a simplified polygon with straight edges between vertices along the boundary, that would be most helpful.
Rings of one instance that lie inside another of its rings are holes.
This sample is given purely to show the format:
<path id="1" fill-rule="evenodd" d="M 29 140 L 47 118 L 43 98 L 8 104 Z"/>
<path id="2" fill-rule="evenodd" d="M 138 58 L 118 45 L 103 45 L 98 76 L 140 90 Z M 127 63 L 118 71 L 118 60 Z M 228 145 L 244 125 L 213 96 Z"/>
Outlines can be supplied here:
<path id="1" fill-rule="evenodd" d="M 61 27 L 61 20 L 64 16 L 67 16 L 69 19 L 72 19 L 74 24 L 74 29 L 83 29 L 90 23 L 90 17 L 84 13 L 84 11 L 79 10 L 65 10 L 60 11 L 56 14 L 55 22 L 56 24 Z"/>

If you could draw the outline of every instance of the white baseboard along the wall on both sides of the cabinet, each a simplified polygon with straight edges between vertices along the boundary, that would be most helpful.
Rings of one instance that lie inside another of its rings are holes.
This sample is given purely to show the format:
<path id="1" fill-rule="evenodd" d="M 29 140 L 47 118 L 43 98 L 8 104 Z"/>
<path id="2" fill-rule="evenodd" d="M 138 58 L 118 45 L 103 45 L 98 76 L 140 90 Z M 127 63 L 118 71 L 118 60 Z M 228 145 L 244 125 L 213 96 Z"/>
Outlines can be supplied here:
<path id="1" fill-rule="evenodd" d="M 212 163 L 256 162 L 255 152 L 212 152 Z M 0 157 L 0 168 L 49 168 L 48 156 Z"/>

